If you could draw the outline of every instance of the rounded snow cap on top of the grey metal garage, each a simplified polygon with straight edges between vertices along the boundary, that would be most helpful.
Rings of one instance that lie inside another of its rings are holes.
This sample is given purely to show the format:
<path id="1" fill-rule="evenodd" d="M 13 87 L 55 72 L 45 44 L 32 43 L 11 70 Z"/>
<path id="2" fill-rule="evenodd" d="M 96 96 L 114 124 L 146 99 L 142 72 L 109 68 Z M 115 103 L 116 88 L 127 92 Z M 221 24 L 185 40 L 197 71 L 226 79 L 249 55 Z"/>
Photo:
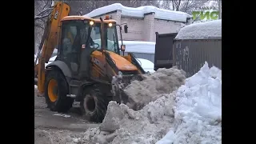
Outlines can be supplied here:
<path id="1" fill-rule="evenodd" d="M 222 20 L 194 23 L 183 27 L 175 39 L 213 39 L 222 38 Z"/>

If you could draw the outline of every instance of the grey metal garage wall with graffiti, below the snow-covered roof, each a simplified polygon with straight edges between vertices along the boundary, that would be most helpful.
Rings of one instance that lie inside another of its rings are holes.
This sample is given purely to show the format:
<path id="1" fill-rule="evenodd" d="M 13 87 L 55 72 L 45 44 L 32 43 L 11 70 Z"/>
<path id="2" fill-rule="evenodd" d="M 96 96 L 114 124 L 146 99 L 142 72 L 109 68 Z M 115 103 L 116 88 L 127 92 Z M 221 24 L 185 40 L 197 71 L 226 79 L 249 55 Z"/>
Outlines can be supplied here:
<path id="1" fill-rule="evenodd" d="M 222 69 L 222 39 L 174 41 L 174 66 L 186 71 L 190 77 L 208 62 Z"/>

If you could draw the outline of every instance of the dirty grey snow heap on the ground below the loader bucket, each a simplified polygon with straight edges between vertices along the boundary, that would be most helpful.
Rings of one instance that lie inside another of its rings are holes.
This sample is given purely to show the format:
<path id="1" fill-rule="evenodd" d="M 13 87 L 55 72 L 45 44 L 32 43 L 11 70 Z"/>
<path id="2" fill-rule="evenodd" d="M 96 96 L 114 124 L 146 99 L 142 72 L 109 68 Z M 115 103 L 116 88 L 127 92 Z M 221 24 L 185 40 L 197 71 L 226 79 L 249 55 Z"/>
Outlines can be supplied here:
<path id="1" fill-rule="evenodd" d="M 171 110 L 173 103 L 174 98 L 167 94 L 166 97 L 151 102 L 140 111 L 131 110 L 124 104 L 110 102 L 102 124 L 98 128 L 86 130 L 78 138 L 78 142 L 86 144 L 156 143 L 168 131 L 166 126 L 174 122 L 174 113 Z"/>

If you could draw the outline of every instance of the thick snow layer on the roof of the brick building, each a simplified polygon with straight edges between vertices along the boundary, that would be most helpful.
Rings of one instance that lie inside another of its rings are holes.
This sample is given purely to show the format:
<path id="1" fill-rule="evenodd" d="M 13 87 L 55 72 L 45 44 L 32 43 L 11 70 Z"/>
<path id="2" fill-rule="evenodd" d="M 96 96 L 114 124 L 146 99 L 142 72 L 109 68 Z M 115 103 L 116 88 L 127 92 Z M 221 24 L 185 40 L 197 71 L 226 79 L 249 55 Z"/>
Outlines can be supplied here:
<path id="1" fill-rule="evenodd" d="M 170 21 L 186 22 L 186 18 L 191 18 L 190 14 L 186 14 L 180 11 L 164 10 L 164 9 L 159 9 L 155 6 L 140 6 L 140 7 L 134 8 L 134 7 L 122 6 L 122 4 L 120 3 L 114 3 L 109 6 L 100 7 L 84 16 L 93 18 L 102 14 L 116 11 L 116 10 L 121 10 L 122 16 L 130 16 L 135 18 L 144 18 L 144 14 L 148 14 L 152 12 L 154 12 L 155 18 L 165 19 Z"/>

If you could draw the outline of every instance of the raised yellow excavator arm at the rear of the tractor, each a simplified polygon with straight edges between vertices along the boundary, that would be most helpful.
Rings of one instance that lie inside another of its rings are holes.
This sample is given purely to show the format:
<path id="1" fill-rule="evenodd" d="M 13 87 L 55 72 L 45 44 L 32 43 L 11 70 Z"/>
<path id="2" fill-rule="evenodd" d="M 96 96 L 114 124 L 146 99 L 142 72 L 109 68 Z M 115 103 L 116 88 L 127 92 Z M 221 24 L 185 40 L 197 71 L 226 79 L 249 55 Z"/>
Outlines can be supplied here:
<path id="1" fill-rule="evenodd" d="M 45 63 L 49 61 L 54 52 L 54 48 L 58 45 L 61 19 L 68 16 L 69 13 L 70 6 L 64 2 L 56 2 L 50 14 L 50 18 L 47 20 L 46 29 L 42 36 L 34 66 L 35 76 L 38 78 L 38 92 L 40 95 L 44 93 Z M 42 54 L 40 54 L 41 50 Z M 36 64 L 37 60 L 38 64 Z"/>

